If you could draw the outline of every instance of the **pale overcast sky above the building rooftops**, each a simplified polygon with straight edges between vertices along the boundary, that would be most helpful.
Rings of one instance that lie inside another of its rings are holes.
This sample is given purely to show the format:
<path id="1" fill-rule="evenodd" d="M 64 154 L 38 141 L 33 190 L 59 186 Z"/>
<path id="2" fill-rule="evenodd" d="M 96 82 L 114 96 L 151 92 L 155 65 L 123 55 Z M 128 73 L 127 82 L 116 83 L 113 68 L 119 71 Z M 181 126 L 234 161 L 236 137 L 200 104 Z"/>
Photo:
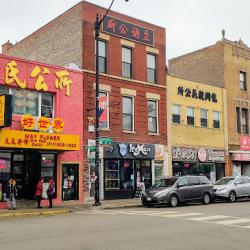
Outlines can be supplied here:
<path id="1" fill-rule="evenodd" d="M 15 43 L 80 0 L 0 0 L 0 44 Z M 89 0 L 108 7 L 111 0 Z M 250 45 L 249 0 L 115 0 L 113 10 L 166 28 L 167 59 L 226 38 Z"/>

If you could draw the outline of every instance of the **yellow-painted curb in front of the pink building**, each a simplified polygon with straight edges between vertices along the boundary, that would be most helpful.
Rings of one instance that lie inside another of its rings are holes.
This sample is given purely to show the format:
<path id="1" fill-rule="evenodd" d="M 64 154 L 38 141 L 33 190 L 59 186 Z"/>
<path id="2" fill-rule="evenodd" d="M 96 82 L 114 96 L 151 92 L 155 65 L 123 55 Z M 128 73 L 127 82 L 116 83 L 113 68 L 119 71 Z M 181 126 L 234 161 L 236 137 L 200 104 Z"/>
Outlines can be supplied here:
<path id="1" fill-rule="evenodd" d="M 70 213 L 70 209 L 60 209 L 53 211 L 34 211 L 34 212 L 4 212 L 0 213 L 0 219 L 2 218 L 22 218 L 22 217 L 30 217 L 30 216 L 54 216 L 60 214 L 68 214 Z"/>

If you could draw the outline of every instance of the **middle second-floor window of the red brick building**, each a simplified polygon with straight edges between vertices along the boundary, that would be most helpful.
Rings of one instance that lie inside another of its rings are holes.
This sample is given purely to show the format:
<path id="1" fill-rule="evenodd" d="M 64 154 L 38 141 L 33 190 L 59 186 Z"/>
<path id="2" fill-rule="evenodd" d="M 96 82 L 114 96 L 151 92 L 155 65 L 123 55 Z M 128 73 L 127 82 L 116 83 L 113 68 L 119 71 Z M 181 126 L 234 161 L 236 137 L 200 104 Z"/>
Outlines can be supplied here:
<path id="1" fill-rule="evenodd" d="M 122 98 L 122 124 L 123 130 L 134 130 L 134 104 L 133 97 L 123 96 Z"/>

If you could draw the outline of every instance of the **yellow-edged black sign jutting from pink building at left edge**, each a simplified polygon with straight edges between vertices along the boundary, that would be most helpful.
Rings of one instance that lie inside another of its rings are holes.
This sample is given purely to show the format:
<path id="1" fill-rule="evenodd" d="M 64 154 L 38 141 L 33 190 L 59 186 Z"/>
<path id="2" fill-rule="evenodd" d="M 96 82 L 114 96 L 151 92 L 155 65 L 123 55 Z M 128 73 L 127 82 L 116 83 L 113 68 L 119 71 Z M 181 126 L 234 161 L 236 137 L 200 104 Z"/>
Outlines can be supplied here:
<path id="1" fill-rule="evenodd" d="M 11 95 L 0 96 L 0 128 L 10 127 L 12 124 Z"/>

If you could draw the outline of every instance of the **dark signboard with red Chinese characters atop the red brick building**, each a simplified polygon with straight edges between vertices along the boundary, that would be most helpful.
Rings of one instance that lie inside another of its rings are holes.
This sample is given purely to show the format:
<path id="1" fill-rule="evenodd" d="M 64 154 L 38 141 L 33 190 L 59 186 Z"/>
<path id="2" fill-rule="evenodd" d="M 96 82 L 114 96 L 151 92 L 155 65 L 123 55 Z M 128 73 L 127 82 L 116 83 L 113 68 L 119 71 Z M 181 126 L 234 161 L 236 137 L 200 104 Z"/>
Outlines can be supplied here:
<path id="1" fill-rule="evenodd" d="M 103 31 L 124 37 L 139 43 L 154 46 L 154 31 L 139 25 L 106 16 L 103 20 Z"/>

